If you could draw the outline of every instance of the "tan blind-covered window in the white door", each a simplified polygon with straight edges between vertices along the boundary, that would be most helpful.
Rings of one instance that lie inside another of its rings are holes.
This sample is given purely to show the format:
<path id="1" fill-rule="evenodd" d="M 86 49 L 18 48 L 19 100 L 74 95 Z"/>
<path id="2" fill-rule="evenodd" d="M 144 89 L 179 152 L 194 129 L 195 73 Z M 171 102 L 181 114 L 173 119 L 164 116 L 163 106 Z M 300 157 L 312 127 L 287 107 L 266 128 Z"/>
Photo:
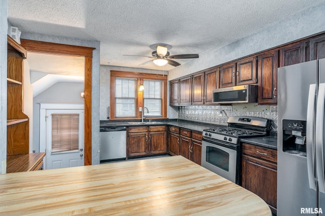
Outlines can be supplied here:
<path id="1" fill-rule="evenodd" d="M 52 117 L 52 153 L 79 150 L 79 114 L 53 113 Z"/>

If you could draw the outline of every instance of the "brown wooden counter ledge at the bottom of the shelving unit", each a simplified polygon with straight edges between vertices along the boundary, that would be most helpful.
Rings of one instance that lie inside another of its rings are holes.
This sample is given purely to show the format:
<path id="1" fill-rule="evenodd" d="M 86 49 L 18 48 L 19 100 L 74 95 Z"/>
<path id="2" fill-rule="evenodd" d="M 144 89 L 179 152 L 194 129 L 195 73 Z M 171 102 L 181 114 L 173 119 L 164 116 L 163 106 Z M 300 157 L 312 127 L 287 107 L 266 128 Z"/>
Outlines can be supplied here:
<path id="1" fill-rule="evenodd" d="M 7 156 L 7 173 L 34 170 L 45 157 L 45 152 Z"/>

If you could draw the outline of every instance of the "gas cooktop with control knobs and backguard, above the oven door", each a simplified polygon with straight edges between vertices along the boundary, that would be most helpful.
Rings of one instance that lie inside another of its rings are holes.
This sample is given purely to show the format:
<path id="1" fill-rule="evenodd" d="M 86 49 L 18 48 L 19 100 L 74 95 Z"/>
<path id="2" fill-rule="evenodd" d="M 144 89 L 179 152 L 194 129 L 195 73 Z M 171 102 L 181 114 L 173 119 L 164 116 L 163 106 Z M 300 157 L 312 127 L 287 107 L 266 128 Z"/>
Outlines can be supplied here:
<path id="1" fill-rule="evenodd" d="M 228 127 L 216 127 L 203 130 L 203 137 L 239 144 L 240 138 L 262 137 L 268 133 L 269 120 L 248 116 L 229 117 Z"/>

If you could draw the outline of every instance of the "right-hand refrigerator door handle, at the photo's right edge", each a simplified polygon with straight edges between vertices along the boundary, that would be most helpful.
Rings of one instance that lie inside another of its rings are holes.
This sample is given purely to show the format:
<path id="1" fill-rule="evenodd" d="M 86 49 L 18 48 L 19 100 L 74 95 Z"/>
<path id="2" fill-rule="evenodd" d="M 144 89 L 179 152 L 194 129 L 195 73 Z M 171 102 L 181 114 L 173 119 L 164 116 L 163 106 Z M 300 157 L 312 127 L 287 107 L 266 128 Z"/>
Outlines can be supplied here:
<path id="1" fill-rule="evenodd" d="M 325 105 L 325 83 L 319 84 L 317 109 L 316 109 L 316 173 L 319 192 L 325 193 L 324 180 L 324 105 Z"/>

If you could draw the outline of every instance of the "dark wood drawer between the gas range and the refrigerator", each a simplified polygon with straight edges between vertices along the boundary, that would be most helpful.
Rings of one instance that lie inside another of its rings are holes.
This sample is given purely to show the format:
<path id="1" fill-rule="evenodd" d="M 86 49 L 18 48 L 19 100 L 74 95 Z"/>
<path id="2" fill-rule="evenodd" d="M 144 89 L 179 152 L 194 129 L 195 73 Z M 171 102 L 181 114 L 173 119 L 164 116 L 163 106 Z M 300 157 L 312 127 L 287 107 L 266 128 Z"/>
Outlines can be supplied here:
<path id="1" fill-rule="evenodd" d="M 243 154 L 277 163 L 277 151 L 274 149 L 243 143 Z"/>

